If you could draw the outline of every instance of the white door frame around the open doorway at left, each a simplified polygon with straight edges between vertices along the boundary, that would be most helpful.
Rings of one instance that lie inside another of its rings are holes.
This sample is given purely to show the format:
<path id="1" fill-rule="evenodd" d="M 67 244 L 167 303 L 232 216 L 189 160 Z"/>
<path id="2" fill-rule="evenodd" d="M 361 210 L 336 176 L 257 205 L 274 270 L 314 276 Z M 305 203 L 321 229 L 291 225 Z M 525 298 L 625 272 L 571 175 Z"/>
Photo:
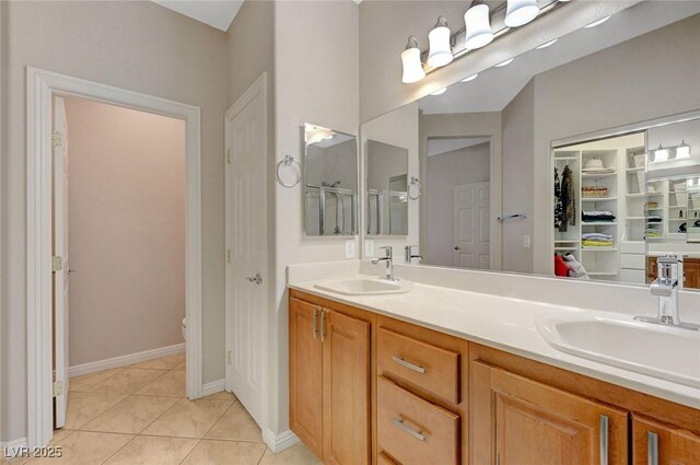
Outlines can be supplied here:
<path id="1" fill-rule="evenodd" d="M 51 112 L 68 95 L 185 121 L 187 396 L 202 395 L 200 108 L 33 67 L 26 68 L 27 443 L 45 446 L 52 431 Z"/>

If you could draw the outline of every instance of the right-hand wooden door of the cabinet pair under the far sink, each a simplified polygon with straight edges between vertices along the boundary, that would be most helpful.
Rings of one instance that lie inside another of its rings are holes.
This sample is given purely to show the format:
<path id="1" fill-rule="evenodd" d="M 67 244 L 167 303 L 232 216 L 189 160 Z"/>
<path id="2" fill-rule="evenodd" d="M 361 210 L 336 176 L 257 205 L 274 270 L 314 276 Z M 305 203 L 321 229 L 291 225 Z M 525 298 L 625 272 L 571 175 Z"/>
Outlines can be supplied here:
<path id="1" fill-rule="evenodd" d="M 322 322 L 323 462 L 370 464 L 370 323 L 334 311 Z"/>

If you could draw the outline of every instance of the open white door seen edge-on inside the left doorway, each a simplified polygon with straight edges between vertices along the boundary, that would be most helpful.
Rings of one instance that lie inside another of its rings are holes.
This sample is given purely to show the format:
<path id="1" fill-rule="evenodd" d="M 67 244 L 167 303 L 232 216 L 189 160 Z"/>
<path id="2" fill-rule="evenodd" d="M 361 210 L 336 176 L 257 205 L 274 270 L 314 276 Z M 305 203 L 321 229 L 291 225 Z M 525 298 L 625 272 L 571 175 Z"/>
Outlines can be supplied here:
<path id="1" fill-rule="evenodd" d="M 55 427 L 68 405 L 68 121 L 63 98 L 54 100 L 54 394 Z"/>

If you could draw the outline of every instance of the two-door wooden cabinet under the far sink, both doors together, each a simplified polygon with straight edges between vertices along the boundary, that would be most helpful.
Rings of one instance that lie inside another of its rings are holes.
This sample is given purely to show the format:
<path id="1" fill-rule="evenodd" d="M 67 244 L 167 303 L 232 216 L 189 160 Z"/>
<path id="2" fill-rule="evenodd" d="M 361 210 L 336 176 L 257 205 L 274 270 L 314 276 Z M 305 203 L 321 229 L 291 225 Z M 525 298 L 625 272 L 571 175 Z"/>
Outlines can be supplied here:
<path id="1" fill-rule="evenodd" d="M 327 465 L 371 462 L 371 323 L 290 300 L 290 428 Z"/>

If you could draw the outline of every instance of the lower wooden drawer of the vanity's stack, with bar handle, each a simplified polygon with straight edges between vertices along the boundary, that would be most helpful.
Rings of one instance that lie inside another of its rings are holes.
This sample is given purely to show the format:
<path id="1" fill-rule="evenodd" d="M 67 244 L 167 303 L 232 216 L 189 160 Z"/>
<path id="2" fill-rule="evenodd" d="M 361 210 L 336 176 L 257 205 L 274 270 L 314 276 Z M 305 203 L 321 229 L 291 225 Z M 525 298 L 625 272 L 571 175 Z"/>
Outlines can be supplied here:
<path id="1" fill-rule="evenodd" d="M 459 416 L 380 376 L 377 444 L 404 465 L 456 465 Z"/>

